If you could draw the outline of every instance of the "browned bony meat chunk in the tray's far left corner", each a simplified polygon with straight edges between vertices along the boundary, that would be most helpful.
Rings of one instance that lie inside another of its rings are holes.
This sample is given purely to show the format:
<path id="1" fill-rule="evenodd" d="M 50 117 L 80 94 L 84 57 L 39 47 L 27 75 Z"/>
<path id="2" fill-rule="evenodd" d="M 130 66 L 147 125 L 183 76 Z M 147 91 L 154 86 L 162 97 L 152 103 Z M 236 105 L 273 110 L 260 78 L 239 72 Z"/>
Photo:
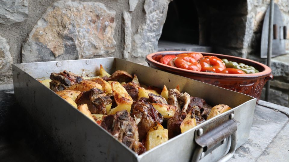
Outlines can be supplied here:
<path id="1" fill-rule="evenodd" d="M 58 90 L 64 90 L 73 84 L 76 84 L 83 80 L 82 77 L 64 70 L 60 73 L 51 73 L 49 77 L 52 81 L 50 82 L 50 89 L 57 88 Z"/>

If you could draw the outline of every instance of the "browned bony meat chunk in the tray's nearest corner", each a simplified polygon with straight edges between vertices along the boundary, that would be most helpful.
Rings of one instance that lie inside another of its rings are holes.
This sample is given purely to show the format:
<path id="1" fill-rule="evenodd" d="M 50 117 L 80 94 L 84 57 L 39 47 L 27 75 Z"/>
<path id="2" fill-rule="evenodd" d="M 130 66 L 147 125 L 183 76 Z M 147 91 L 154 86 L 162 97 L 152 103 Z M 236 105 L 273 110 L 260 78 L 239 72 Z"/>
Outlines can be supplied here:
<path id="1" fill-rule="evenodd" d="M 103 117 L 101 127 L 137 154 L 145 152 L 144 145 L 138 142 L 138 127 L 126 110 Z"/>

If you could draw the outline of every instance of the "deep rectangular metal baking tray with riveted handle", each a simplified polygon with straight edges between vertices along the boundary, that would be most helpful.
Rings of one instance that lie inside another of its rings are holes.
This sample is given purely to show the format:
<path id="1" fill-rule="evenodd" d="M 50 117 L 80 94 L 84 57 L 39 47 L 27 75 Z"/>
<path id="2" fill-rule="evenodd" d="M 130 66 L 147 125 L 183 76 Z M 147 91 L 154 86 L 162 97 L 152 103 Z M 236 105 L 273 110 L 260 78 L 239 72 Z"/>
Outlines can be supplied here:
<path id="1" fill-rule="evenodd" d="M 179 84 L 181 91 L 210 105 L 226 104 L 234 109 L 137 155 L 37 81 L 64 70 L 94 76 L 100 64 L 110 73 L 136 74 L 142 84 L 168 88 Z M 16 99 L 69 161 L 226 161 L 247 141 L 256 105 L 256 99 L 242 93 L 114 57 L 14 64 L 12 69 Z"/>

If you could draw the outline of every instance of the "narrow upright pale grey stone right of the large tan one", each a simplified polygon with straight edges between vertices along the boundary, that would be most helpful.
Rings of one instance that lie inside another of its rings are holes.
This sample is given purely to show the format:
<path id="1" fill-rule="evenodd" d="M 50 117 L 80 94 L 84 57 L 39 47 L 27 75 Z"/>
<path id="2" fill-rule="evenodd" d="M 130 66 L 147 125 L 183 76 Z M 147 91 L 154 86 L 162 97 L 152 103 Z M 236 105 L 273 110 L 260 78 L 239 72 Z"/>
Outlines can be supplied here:
<path id="1" fill-rule="evenodd" d="M 123 12 L 124 48 L 123 58 L 127 59 L 132 48 L 132 17 L 129 12 Z"/>

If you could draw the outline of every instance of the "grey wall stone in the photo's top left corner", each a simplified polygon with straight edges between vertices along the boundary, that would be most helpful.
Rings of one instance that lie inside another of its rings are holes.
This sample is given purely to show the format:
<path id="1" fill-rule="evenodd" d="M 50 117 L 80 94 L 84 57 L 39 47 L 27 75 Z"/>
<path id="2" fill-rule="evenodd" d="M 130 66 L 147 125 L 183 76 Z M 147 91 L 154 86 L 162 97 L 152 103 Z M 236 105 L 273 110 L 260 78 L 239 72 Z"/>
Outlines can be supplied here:
<path id="1" fill-rule="evenodd" d="M 28 17 L 27 0 L 1 0 L 0 1 L 0 23 L 11 25 L 22 22 Z"/>

